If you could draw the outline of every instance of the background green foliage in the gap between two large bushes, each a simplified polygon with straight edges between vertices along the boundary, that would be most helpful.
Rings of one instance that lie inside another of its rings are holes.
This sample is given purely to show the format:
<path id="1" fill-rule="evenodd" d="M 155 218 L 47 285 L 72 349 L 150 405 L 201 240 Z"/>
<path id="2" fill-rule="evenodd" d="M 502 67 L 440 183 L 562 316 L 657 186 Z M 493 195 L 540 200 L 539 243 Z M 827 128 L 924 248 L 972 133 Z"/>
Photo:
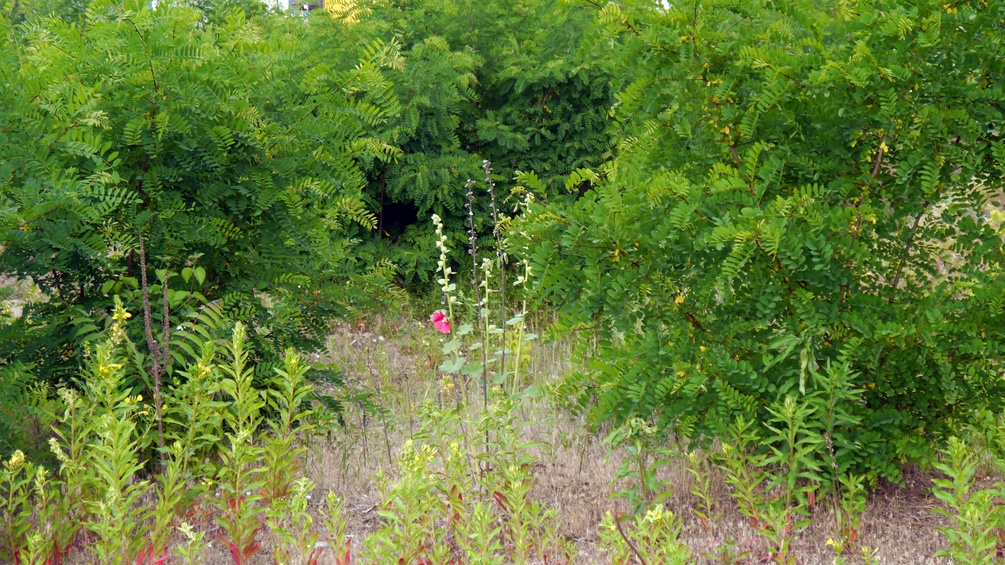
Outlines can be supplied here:
<path id="1" fill-rule="evenodd" d="M 548 195 L 562 197 L 565 176 L 599 165 L 610 148 L 607 71 L 579 50 L 593 27 L 587 12 L 551 0 L 362 6 L 358 25 L 400 41 L 404 62 L 393 77 L 401 112 L 392 138 L 403 156 L 372 171 L 367 189 L 380 210 L 377 237 L 389 240 L 367 252 L 392 257 L 409 282 L 427 282 L 433 270 L 426 218 L 438 214 L 452 233 L 466 229 L 461 187 L 481 178 L 482 161 L 493 163 L 496 180 L 537 171 Z M 485 199 L 474 212 L 484 234 Z"/>

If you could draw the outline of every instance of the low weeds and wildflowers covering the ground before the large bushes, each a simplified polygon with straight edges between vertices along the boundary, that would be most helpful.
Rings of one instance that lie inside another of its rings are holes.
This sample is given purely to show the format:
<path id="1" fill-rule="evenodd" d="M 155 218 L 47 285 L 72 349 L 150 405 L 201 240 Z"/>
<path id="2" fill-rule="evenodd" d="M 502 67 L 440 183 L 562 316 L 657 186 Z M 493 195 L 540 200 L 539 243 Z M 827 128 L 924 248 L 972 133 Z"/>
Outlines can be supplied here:
<path id="1" fill-rule="evenodd" d="M 509 284 L 510 304 L 520 305 L 511 316 L 504 306 L 505 237 L 496 233 L 494 258 L 479 261 L 472 226 L 470 281 L 462 292 L 451 279 L 457 273 L 447 264 L 442 224 L 435 216 L 434 222 L 444 309 L 432 315 L 432 328 L 405 321 L 417 328 L 399 344 L 416 365 L 412 376 L 391 374 L 395 363 L 382 335 L 365 344 L 354 339 L 362 361 L 339 371 L 346 380 L 342 371 L 355 371 L 344 401 L 379 422 L 388 462 L 373 478 L 377 525 L 362 540 L 350 533 L 355 525 L 334 491 L 318 497 L 324 504 L 312 502 L 317 485 L 305 468 L 309 446 L 331 437 L 331 426 L 343 426 L 335 436 L 353 439 L 345 414 L 333 418 L 323 400 L 331 397 L 314 394 L 312 373 L 323 364 L 290 349 L 270 378 L 256 380 L 248 329 L 238 323 L 228 338 L 207 337 L 198 350 L 189 348 L 181 378 L 152 406 L 141 393 L 148 388 L 129 376 L 137 349 L 125 331 L 130 314 L 117 302 L 113 324 L 91 342 L 74 386 L 51 395 L 31 391 L 38 421 L 51 422 L 49 452 L 46 458 L 14 451 L 3 460 L 0 558 L 17 565 L 216 563 L 210 546 L 219 543 L 234 565 L 583 562 L 577 540 L 563 532 L 561 509 L 536 490 L 539 467 L 576 439 L 535 440 L 528 428 L 557 427 L 569 418 L 568 389 L 575 384 L 536 370 L 535 357 L 546 350 L 528 324 L 522 295 L 530 264 L 520 264 L 523 275 Z M 844 366 L 811 377 L 833 385 L 824 390 L 845 390 L 850 378 Z M 601 562 L 795 565 L 805 562 L 798 536 L 814 521 L 828 521 L 835 565 L 878 563 L 876 549 L 860 536 L 876 478 L 838 464 L 835 445 L 847 445 L 833 442 L 834 430 L 855 420 L 835 406 L 833 394 L 790 394 L 766 407 L 767 422 L 735 417 L 721 440 L 705 446 L 662 435 L 642 417 L 602 425 L 608 458 L 620 468 L 611 486 L 615 510 L 594 524 Z M 542 411 L 546 421 L 536 421 Z M 995 454 L 1005 432 L 996 421 L 967 437 L 1001 468 L 1005 458 Z M 395 448 L 392 432 L 403 429 L 407 438 Z M 1002 555 L 1005 484 L 978 483 L 985 459 L 976 452 L 954 439 L 936 465 L 945 478 L 935 480 L 933 494 L 944 504 L 936 513 L 945 518 L 940 531 L 948 542 L 936 557 L 954 564 Z M 663 475 L 673 464 L 685 468 L 686 485 Z M 678 490 L 693 504 L 674 506 Z M 685 519 L 721 534 L 729 504 L 716 496 L 722 491 L 755 541 L 725 538 L 714 551 L 694 551 L 683 539 Z"/>

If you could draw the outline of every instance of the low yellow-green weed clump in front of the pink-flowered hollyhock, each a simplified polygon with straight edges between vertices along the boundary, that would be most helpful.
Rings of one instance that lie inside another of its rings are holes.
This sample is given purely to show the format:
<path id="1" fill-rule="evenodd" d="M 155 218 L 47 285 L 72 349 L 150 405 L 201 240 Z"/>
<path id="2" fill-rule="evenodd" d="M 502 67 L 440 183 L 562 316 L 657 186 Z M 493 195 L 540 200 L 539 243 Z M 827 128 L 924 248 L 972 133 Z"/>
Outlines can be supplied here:
<path id="1" fill-rule="evenodd" d="M 367 538 L 364 562 L 572 562 L 575 548 L 558 534 L 558 513 L 531 497 L 533 444 L 521 439 L 515 404 L 499 392 L 491 391 L 494 400 L 477 420 L 423 405 L 421 429 L 399 456 L 399 479 L 381 476 L 382 527 Z M 465 434 L 467 425 L 477 431 Z"/>

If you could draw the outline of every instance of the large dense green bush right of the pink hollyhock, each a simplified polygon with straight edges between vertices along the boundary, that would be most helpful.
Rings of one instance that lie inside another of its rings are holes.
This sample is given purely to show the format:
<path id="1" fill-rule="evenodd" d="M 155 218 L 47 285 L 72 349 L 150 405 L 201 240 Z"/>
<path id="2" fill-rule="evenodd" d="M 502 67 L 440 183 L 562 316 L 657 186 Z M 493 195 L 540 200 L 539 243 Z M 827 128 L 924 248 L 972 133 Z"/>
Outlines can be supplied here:
<path id="1" fill-rule="evenodd" d="M 606 4 L 616 157 L 515 230 L 559 327 L 592 330 L 594 418 L 710 438 L 792 397 L 822 435 L 776 447 L 895 480 L 975 408 L 999 411 L 1003 17 Z"/>

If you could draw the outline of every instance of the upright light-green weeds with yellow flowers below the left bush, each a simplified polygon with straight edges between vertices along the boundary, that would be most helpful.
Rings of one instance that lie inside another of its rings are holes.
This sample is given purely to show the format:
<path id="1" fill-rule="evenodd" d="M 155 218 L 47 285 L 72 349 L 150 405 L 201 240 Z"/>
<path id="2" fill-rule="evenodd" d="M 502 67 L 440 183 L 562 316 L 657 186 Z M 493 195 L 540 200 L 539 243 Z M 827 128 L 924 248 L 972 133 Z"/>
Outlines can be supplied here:
<path id="1" fill-rule="evenodd" d="M 294 486 L 272 500 L 269 518 L 283 540 L 307 547 L 303 507 L 309 489 L 290 473 L 299 468 L 301 450 L 267 459 L 259 446 L 274 441 L 262 425 L 266 398 L 273 399 L 279 415 L 269 420 L 272 432 L 290 438 L 307 430 L 305 399 L 311 387 L 305 384 L 305 360 L 288 351 L 284 369 L 276 371 L 270 386 L 255 388 L 244 327 L 237 325 L 226 343 L 209 340 L 202 356 L 184 367 L 192 386 L 167 393 L 169 406 L 196 405 L 169 412 L 165 435 L 171 442 L 161 453 L 161 467 L 150 473 L 147 448 L 156 422 L 154 410 L 129 379 L 135 348 L 128 341 L 127 320 L 120 305 L 113 326 L 85 360 L 79 390 L 59 390 L 60 414 L 49 441 L 57 463 L 52 474 L 21 451 L 3 461 L 0 555 L 11 563 L 59 563 L 77 545 L 92 551 L 97 563 L 161 563 L 171 553 L 179 520 L 197 516 L 195 510 L 202 508 L 210 513 L 206 519 L 218 524 L 216 536 L 228 544 L 235 563 L 243 563 L 258 548 L 265 512 L 259 492 L 271 470 L 263 465 L 273 463 Z M 220 383 L 209 396 L 207 380 Z M 214 484 L 217 496 L 209 491 Z M 283 527 L 286 522 L 301 528 L 291 533 Z M 188 525 L 180 530 L 189 543 L 175 552 L 198 563 L 205 532 Z"/>

